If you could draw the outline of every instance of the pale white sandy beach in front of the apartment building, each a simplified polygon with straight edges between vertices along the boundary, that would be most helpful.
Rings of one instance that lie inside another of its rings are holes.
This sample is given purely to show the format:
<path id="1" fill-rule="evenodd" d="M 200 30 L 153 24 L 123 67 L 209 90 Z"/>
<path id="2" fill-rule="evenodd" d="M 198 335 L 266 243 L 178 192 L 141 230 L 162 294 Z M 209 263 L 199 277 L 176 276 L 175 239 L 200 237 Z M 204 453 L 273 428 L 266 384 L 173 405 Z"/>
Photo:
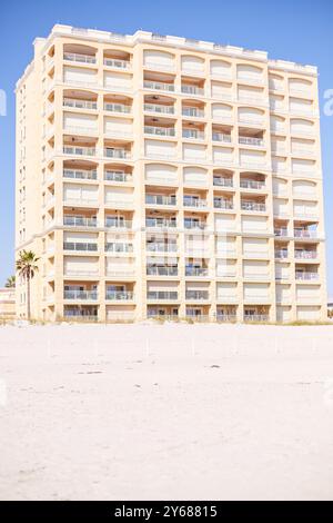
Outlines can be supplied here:
<path id="1" fill-rule="evenodd" d="M 1 500 L 333 500 L 333 326 L 0 328 Z"/>

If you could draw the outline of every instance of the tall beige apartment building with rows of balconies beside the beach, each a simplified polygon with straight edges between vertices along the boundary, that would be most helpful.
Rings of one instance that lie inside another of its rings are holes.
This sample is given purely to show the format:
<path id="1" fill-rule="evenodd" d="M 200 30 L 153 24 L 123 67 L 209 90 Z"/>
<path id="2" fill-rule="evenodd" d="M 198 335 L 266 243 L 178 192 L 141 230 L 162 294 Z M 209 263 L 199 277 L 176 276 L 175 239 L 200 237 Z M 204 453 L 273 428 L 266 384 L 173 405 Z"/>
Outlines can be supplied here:
<path id="1" fill-rule="evenodd" d="M 315 67 L 145 31 L 36 40 L 17 85 L 33 317 L 323 320 L 324 235 Z"/>

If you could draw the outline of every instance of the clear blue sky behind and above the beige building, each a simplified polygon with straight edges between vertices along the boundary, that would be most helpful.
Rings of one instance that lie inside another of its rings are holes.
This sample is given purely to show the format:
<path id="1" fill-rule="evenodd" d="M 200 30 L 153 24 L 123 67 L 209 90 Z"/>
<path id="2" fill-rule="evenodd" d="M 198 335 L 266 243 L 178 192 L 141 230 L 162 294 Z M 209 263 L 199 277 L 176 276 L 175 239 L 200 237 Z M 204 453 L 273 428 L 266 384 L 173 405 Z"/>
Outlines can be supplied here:
<path id="1" fill-rule="evenodd" d="M 0 286 L 13 272 L 14 96 L 17 79 L 32 57 L 32 41 L 54 23 L 132 33 L 137 29 L 266 50 L 271 58 L 316 65 L 320 99 L 333 89 L 332 0 L 48 0 L 6 1 L 0 14 Z M 327 270 L 333 265 L 333 116 L 322 112 Z M 333 272 L 332 272 L 333 273 Z M 329 276 L 333 296 L 333 275 Z"/>

